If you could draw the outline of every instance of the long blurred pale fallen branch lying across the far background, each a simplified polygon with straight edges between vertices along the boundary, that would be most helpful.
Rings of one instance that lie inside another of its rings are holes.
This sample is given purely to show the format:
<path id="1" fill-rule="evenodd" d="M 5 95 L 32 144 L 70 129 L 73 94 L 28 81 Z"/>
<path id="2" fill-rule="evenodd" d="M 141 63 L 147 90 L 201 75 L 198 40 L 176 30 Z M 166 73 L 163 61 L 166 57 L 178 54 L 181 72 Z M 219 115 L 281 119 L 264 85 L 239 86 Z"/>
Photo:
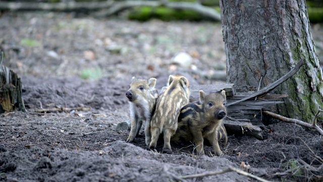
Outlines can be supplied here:
<path id="1" fill-rule="evenodd" d="M 179 10 L 192 10 L 201 15 L 211 18 L 212 20 L 221 21 L 221 15 L 213 8 L 203 6 L 199 3 L 189 2 L 168 2 L 168 1 L 105 1 L 105 2 L 68 2 L 68 3 L 12 3 L 0 2 L 0 10 L 26 11 L 26 10 L 43 10 L 43 11 L 78 11 L 78 10 L 104 10 L 96 13 L 96 16 L 107 17 L 115 15 L 123 10 L 138 7 L 168 7 Z"/>

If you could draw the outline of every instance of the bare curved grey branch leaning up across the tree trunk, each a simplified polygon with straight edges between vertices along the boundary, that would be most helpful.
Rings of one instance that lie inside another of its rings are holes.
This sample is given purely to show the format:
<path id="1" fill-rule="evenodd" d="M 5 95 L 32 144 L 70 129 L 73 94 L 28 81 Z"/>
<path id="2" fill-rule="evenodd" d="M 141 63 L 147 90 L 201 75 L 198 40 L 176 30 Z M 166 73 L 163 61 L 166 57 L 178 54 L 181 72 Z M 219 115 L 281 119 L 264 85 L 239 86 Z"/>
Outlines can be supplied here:
<path id="1" fill-rule="evenodd" d="M 301 68 L 301 66 L 304 63 L 304 59 L 302 59 L 301 61 L 299 61 L 295 67 L 293 69 L 291 69 L 287 74 L 285 74 L 284 76 L 282 76 L 281 78 L 279 78 L 278 80 L 276 80 L 274 83 L 267 85 L 266 87 L 262 88 L 261 90 L 259 90 L 258 92 L 255 92 L 254 94 L 251 94 L 248 97 L 245 97 L 239 101 L 233 102 L 233 103 L 229 103 L 226 104 L 226 107 L 234 105 L 234 104 L 238 104 L 242 101 L 246 101 L 248 99 L 266 94 L 268 92 L 270 92 L 271 90 L 273 90 L 274 88 L 276 88 L 278 85 L 280 85 L 281 83 L 283 83 L 284 81 L 286 81 L 288 78 L 292 77 L 295 73 L 297 73 L 297 71 Z"/>

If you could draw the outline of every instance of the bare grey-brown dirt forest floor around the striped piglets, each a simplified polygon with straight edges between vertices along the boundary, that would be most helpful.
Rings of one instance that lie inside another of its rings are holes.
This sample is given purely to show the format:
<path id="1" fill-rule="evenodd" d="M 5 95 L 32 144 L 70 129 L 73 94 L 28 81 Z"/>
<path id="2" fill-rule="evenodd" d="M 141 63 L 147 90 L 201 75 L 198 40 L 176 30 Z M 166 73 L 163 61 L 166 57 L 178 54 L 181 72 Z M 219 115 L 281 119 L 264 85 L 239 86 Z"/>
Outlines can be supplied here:
<path id="1" fill-rule="evenodd" d="M 321 25 L 313 26 L 318 45 L 322 32 Z M 157 78 L 158 90 L 173 73 L 186 75 L 191 84 L 225 82 L 219 23 L 3 13 L 0 35 L 4 65 L 21 77 L 28 110 L 0 115 L 0 181 L 176 181 L 240 168 L 241 162 L 268 180 L 323 180 L 315 177 L 323 172 L 298 162 L 322 165 L 313 156 L 323 157 L 323 139 L 295 124 L 274 121 L 261 141 L 230 135 L 220 157 L 208 146 L 205 156 L 196 156 L 193 145 L 174 143 L 174 154 L 160 154 L 162 141 L 153 152 L 143 134 L 128 144 L 129 130 L 116 131 L 118 123 L 130 120 L 125 93 L 132 76 Z M 192 56 L 188 67 L 171 64 L 179 52 Z M 34 113 L 57 108 L 65 111 Z M 227 172 L 186 180 L 255 179 Z"/>

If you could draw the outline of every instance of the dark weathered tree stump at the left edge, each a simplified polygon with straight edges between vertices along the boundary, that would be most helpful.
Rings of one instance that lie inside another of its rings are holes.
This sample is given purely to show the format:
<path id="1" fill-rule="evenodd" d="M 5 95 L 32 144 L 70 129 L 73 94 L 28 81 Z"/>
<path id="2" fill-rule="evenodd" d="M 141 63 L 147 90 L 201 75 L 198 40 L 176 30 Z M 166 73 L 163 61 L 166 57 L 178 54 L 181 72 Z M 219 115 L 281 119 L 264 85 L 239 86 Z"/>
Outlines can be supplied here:
<path id="1" fill-rule="evenodd" d="M 0 57 L 0 114 L 15 110 L 26 112 L 21 80 L 14 71 L 2 65 L 2 54 Z"/>

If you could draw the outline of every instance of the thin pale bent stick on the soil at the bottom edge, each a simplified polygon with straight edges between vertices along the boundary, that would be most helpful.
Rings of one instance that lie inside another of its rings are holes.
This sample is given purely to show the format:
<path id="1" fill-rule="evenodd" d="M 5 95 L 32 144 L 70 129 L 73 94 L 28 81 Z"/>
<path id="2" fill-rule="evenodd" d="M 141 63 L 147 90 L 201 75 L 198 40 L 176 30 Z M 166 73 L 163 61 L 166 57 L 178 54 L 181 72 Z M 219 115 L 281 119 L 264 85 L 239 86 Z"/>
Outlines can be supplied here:
<path id="1" fill-rule="evenodd" d="M 238 174 L 242 174 L 242 175 L 245 175 L 245 176 L 248 176 L 248 177 L 252 177 L 252 178 L 257 179 L 257 180 L 262 181 L 262 182 L 269 182 L 266 179 L 263 179 L 261 177 L 258 177 L 256 175 L 250 174 L 248 172 L 245 172 L 243 170 L 240 170 L 240 169 L 232 167 L 232 166 L 229 166 L 227 169 L 224 169 L 224 170 L 221 170 L 221 171 L 184 175 L 184 176 L 179 176 L 179 178 L 187 179 L 187 178 L 205 177 L 205 176 L 210 176 L 210 175 L 223 174 L 223 173 L 230 172 L 230 171 L 234 171 L 234 172 L 237 172 Z"/>

